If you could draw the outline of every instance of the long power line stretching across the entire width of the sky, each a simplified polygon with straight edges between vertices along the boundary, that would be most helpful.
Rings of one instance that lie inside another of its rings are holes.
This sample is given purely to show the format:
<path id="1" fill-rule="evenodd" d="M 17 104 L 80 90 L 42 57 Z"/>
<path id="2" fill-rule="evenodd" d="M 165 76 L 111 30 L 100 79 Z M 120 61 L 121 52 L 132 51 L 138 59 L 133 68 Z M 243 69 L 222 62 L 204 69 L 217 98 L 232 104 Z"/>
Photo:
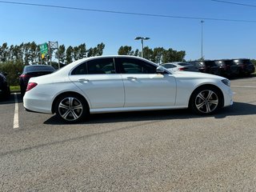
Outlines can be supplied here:
<path id="1" fill-rule="evenodd" d="M 137 16 L 157 17 L 157 18 L 182 18 L 182 19 L 211 20 L 211 21 L 222 21 L 222 22 L 256 22 L 256 20 L 241 20 L 241 19 L 227 19 L 227 18 L 198 18 L 198 17 L 175 16 L 175 15 L 164 15 L 164 14 L 142 14 L 142 13 L 133 13 L 133 12 L 114 11 L 114 10 L 94 10 L 94 9 L 79 8 L 79 7 L 72 7 L 72 6 L 53 6 L 53 5 L 35 4 L 35 3 L 26 3 L 26 2 L 0 1 L 0 3 L 21 5 L 21 6 L 41 6 L 41 7 L 66 9 L 66 10 L 83 10 L 83 11 L 101 12 L 101 13 L 109 13 L 109 14 L 130 14 L 130 15 L 137 15 Z"/>

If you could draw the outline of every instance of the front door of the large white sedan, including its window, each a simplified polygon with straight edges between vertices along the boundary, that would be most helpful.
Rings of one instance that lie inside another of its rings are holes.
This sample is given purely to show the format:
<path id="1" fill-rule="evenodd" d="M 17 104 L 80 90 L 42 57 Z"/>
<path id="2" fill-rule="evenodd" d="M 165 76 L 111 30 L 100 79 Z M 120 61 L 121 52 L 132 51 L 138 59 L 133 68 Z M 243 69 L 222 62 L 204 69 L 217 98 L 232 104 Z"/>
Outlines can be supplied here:
<path id="1" fill-rule="evenodd" d="M 157 66 L 137 58 L 115 58 L 125 86 L 125 107 L 174 106 L 176 81 L 157 74 Z"/>

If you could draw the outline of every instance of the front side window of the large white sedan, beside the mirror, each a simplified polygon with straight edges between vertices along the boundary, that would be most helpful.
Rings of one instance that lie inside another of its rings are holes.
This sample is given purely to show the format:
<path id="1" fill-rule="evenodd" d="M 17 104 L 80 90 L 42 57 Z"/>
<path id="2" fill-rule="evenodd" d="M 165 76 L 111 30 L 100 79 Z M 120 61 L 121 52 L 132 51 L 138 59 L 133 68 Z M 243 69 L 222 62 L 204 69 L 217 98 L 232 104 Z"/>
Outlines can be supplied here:
<path id="1" fill-rule="evenodd" d="M 133 58 L 118 58 L 122 74 L 155 74 L 156 66 Z"/>

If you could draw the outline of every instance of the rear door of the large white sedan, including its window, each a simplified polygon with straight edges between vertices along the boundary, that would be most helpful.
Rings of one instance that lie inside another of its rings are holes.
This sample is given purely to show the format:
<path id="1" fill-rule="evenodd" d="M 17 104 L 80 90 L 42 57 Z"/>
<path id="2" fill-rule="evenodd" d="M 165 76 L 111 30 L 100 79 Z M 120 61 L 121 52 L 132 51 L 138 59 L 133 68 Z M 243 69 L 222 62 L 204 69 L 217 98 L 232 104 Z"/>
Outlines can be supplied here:
<path id="1" fill-rule="evenodd" d="M 93 109 L 124 106 L 122 76 L 116 73 L 113 58 L 83 62 L 71 72 L 70 80 L 86 95 Z"/>

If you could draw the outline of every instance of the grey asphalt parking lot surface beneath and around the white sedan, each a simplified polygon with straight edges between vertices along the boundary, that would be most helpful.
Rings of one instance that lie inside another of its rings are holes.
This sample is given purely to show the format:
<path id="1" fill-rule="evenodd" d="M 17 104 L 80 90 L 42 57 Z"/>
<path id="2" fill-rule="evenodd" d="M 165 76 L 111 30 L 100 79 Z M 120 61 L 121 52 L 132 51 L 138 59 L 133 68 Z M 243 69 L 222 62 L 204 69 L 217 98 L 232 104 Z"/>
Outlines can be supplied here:
<path id="1" fill-rule="evenodd" d="M 94 114 L 67 125 L 0 102 L 1 191 L 255 191 L 256 78 L 231 80 L 234 105 Z M 15 99 L 16 98 L 16 99 Z"/>

